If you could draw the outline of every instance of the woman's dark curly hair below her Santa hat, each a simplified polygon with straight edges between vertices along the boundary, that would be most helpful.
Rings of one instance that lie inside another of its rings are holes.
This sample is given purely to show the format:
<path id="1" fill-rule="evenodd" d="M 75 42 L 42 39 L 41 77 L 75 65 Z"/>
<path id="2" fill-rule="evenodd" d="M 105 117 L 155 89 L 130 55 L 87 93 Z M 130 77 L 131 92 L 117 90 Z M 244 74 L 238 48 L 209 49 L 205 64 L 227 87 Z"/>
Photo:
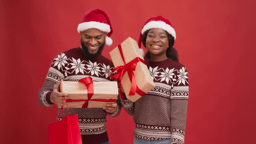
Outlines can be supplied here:
<path id="1" fill-rule="evenodd" d="M 149 30 L 144 32 L 144 34 L 142 35 L 142 44 L 145 46 L 145 48 L 146 48 L 146 38 L 147 38 L 148 32 L 149 32 Z M 168 41 L 169 47 L 166 50 L 166 56 L 167 56 L 167 58 L 171 58 L 175 62 L 179 62 L 178 51 L 174 47 L 172 47 L 174 45 L 174 37 L 171 34 L 169 34 L 168 32 L 166 32 L 166 34 L 168 35 L 168 40 L 169 40 Z M 150 58 L 150 53 L 146 52 L 145 59 L 148 59 L 148 58 Z"/>

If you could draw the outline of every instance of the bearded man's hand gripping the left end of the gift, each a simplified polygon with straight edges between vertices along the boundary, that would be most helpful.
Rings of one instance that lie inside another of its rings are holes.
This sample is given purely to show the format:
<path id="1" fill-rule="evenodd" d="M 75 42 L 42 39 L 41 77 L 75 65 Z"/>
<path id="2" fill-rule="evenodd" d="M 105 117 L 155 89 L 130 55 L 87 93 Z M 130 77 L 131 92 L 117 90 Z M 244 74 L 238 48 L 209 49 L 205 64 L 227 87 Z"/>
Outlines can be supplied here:
<path id="1" fill-rule="evenodd" d="M 50 100 L 52 103 L 56 104 L 57 106 L 62 106 L 62 96 L 65 96 L 66 99 L 68 99 L 68 94 L 60 92 L 60 82 L 63 80 L 60 80 L 57 84 L 54 85 L 54 89 L 50 95 Z"/>

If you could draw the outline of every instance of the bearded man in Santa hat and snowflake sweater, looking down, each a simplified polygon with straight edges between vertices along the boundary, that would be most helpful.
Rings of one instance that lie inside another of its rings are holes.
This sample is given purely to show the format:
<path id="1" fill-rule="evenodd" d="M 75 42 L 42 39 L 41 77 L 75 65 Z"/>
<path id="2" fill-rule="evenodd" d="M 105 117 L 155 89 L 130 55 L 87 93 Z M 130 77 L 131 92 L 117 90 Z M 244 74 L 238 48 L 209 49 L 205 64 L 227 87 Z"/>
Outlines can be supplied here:
<path id="1" fill-rule="evenodd" d="M 82 23 L 78 25 L 78 32 L 81 36 L 81 46 L 61 52 L 50 66 L 46 80 L 38 93 L 39 102 L 43 106 L 61 106 L 62 96 L 68 99 L 66 93 L 59 92 L 62 80 L 78 81 L 90 76 L 93 81 L 110 81 L 109 74 L 114 66 L 101 55 L 104 45 L 112 44 L 110 36 L 113 30 L 108 16 L 100 9 L 86 12 Z M 117 116 L 120 108 L 119 100 L 104 108 L 70 108 L 71 114 L 78 114 L 83 143 L 108 144 L 106 115 Z M 62 117 L 59 120 L 61 119 Z"/>

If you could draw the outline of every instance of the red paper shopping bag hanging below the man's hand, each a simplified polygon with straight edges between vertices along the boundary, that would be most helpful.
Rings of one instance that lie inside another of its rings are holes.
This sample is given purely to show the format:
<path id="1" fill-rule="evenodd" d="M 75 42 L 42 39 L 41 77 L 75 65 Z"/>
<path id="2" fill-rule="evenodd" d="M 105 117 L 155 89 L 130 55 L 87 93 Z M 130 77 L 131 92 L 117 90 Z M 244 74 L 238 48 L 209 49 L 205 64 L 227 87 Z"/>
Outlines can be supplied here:
<path id="1" fill-rule="evenodd" d="M 66 98 L 63 98 L 66 101 Z M 82 144 L 78 115 L 71 116 L 68 105 L 67 109 L 68 114 L 64 117 L 64 106 L 62 106 L 63 119 L 48 126 L 48 144 Z M 59 116 L 60 113 L 58 114 L 58 118 Z"/>

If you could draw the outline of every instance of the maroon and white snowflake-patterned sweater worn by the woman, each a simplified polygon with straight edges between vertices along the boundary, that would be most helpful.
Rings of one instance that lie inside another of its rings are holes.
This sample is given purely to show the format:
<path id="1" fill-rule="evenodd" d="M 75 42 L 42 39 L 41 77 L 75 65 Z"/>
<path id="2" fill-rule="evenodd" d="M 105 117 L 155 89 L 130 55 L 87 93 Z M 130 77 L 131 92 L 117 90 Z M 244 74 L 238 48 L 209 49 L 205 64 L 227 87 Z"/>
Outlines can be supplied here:
<path id="1" fill-rule="evenodd" d="M 146 60 L 156 87 L 136 102 L 121 100 L 128 114 L 134 116 L 134 136 L 142 140 L 172 139 L 172 144 L 184 144 L 188 72 L 170 58 L 161 62 Z"/>

